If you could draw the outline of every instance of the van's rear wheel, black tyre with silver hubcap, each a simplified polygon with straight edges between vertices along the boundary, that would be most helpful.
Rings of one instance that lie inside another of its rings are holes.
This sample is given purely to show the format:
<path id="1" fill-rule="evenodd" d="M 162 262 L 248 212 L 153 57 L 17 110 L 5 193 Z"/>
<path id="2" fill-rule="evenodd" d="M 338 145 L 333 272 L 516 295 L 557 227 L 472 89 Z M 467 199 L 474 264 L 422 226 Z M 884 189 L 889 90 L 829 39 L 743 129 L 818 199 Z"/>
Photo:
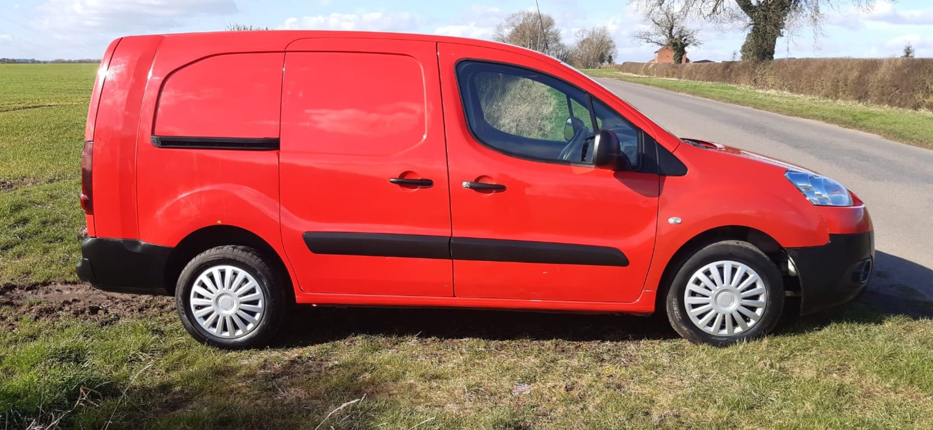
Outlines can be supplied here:
<path id="1" fill-rule="evenodd" d="M 181 271 L 175 307 L 199 342 L 224 349 L 263 347 L 285 317 L 286 286 L 283 273 L 255 249 L 218 246 Z"/>

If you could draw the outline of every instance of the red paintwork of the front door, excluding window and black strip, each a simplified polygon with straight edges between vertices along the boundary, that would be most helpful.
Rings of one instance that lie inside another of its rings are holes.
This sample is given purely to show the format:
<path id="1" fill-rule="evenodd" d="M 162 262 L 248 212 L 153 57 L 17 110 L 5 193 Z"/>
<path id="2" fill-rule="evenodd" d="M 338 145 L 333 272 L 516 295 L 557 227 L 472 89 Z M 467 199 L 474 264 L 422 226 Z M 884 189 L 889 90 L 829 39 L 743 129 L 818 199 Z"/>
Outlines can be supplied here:
<path id="1" fill-rule="evenodd" d="M 523 52 L 453 43 L 439 44 L 438 51 L 441 70 L 453 71 L 463 58 L 481 58 L 566 74 L 563 65 Z M 456 296 L 607 302 L 638 298 L 654 248 L 658 175 L 521 160 L 491 150 L 466 127 L 453 73 L 442 74 L 440 83 L 444 100 L 457 101 L 444 110 L 454 236 L 612 246 L 630 261 L 628 267 L 611 267 L 454 260 Z M 575 83 L 583 90 L 599 90 L 588 82 Z M 480 176 L 488 177 L 483 182 L 505 185 L 506 191 L 488 194 L 461 187 Z"/>

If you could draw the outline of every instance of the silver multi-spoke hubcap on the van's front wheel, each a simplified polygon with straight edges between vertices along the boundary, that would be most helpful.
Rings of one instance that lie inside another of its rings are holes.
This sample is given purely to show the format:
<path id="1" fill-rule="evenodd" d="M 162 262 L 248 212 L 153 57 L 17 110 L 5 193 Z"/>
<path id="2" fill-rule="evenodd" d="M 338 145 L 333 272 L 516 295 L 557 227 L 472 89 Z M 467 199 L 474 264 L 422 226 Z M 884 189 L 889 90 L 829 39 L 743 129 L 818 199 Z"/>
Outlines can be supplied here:
<path id="1" fill-rule="evenodd" d="M 684 305 L 690 321 L 706 333 L 733 336 L 758 324 L 768 304 L 764 282 L 737 261 L 707 264 L 690 276 Z"/>

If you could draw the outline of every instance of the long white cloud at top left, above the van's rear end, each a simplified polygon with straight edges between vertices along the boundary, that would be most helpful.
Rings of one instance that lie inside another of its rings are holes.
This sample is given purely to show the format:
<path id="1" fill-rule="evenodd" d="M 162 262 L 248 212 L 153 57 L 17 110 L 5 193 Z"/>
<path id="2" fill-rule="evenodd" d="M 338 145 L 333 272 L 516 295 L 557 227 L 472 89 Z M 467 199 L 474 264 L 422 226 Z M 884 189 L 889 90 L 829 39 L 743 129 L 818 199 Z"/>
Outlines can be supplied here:
<path id="1" fill-rule="evenodd" d="M 48 0 L 35 25 L 60 34 L 176 27 L 187 18 L 237 12 L 233 0 Z"/>

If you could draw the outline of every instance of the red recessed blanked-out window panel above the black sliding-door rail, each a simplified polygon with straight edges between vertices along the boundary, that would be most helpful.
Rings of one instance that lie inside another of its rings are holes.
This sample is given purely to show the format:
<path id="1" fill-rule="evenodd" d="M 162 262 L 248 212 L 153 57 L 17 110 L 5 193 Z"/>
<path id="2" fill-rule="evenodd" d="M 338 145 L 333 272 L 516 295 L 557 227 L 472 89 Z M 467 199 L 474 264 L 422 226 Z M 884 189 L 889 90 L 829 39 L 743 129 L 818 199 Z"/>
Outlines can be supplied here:
<path id="1" fill-rule="evenodd" d="M 283 56 L 224 54 L 175 70 L 160 90 L 153 133 L 278 137 Z"/>

